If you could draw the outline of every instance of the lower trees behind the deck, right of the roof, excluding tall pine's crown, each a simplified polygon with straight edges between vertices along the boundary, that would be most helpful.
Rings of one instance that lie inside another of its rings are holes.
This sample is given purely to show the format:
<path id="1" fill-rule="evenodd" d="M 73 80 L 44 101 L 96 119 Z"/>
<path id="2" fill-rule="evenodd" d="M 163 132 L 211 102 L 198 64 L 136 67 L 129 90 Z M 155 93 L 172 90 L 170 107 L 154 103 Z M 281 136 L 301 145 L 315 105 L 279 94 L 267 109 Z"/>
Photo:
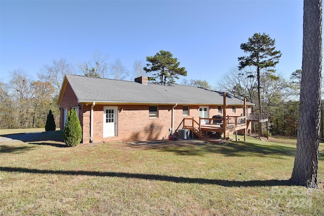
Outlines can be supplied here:
<path id="1" fill-rule="evenodd" d="M 256 77 L 251 76 L 253 67 L 244 70 L 233 67 L 221 79 L 217 80 L 216 89 L 225 91 L 238 98 L 246 98 L 248 102 L 254 103 L 252 112 L 259 113 L 259 97 L 262 104 L 261 113 L 267 113 L 269 128 L 263 125 L 263 134 L 266 129 L 272 135 L 296 136 L 299 116 L 299 92 L 301 70 L 292 72 L 289 79 L 282 74 L 261 74 L 260 88 Z M 258 132 L 259 128 L 252 125 L 253 130 Z"/>

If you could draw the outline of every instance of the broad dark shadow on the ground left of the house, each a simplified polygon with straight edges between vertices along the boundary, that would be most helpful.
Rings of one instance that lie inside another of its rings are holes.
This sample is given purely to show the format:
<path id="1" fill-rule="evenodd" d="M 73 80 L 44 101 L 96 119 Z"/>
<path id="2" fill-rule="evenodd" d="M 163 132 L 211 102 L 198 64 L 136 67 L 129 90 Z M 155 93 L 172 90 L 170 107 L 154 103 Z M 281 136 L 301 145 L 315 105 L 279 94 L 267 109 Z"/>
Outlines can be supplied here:
<path id="1" fill-rule="evenodd" d="M 1 137 L 10 138 L 13 140 L 20 140 L 22 142 L 38 142 L 38 141 L 63 142 L 63 131 L 7 134 L 7 135 L 1 135 Z"/>

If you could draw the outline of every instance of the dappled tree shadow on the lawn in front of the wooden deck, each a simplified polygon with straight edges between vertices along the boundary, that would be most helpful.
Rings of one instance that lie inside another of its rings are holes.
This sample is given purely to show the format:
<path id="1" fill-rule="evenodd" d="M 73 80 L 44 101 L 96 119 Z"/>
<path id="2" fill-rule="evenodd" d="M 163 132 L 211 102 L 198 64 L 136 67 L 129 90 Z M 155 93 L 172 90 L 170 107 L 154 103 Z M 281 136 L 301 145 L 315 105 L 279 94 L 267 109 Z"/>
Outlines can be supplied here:
<path id="1" fill-rule="evenodd" d="M 199 148 L 195 145 L 161 148 L 163 152 L 174 152 L 178 155 L 204 155 L 208 153 L 218 153 L 225 156 L 295 156 L 296 148 L 281 145 L 261 145 L 247 142 L 226 143 L 226 144 L 199 144 Z"/>

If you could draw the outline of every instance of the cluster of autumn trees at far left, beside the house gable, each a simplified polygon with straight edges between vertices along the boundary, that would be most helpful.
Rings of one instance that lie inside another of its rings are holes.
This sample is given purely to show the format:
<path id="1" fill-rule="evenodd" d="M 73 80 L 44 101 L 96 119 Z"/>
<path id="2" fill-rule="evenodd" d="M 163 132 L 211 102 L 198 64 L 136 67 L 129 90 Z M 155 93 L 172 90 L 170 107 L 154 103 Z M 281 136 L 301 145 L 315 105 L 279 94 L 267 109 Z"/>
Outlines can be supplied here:
<path id="1" fill-rule="evenodd" d="M 0 83 L 0 128 L 44 127 L 47 112 L 56 108 L 54 91 L 48 81 L 35 81 L 23 70 L 12 71 L 9 84 Z"/>

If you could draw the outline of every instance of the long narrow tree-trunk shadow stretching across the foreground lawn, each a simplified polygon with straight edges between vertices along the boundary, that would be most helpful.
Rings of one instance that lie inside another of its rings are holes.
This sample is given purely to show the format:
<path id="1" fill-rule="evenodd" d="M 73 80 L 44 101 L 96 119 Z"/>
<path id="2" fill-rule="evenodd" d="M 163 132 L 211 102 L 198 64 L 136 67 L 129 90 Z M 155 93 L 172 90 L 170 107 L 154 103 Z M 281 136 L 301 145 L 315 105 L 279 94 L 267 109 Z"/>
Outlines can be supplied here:
<path id="1" fill-rule="evenodd" d="M 118 178 L 130 178 L 130 179 L 156 180 L 156 181 L 165 181 L 165 182 L 174 182 L 174 183 L 220 185 L 224 187 L 293 186 L 293 184 L 288 180 L 229 181 L 229 180 L 186 178 L 186 177 L 173 177 L 173 176 L 150 175 L 150 174 L 130 174 L 127 172 L 48 170 L 48 169 L 29 169 L 29 168 L 22 168 L 22 167 L 5 167 L 5 166 L 0 166 L 0 170 L 6 172 L 26 172 L 31 174 L 118 177 Z"/>

